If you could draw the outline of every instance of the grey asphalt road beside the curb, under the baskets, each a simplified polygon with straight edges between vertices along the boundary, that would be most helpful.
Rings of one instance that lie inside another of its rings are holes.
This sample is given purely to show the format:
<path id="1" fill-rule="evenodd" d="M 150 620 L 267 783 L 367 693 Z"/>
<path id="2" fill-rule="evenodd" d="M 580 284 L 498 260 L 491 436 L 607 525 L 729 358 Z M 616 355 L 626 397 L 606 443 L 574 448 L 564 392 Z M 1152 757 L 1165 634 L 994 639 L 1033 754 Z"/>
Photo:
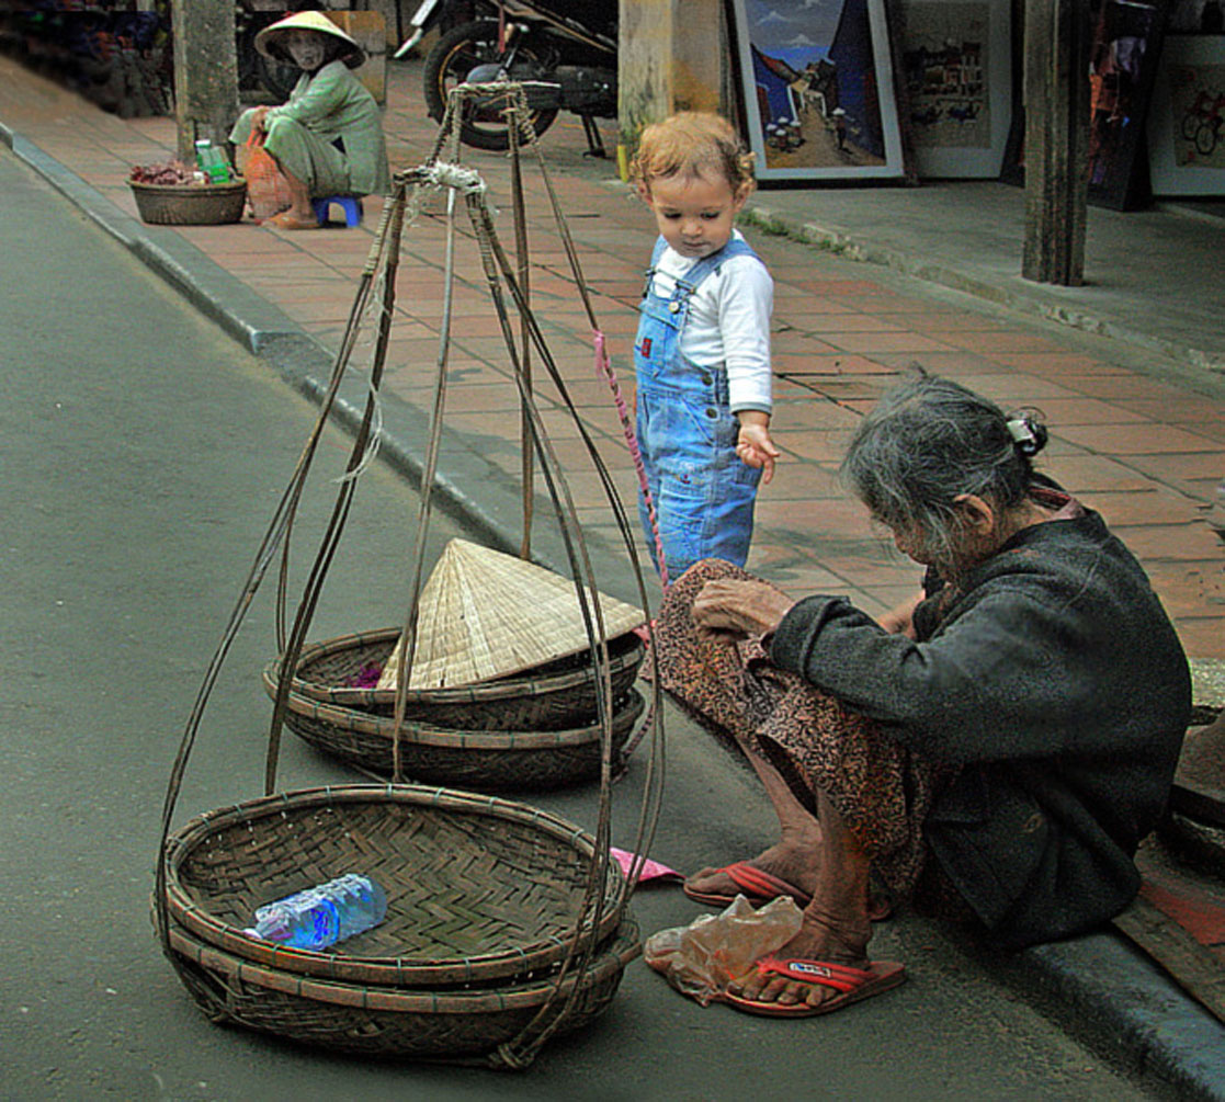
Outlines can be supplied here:
<path id="1" fill-rule="evenodd" d="M 172 762 L 314 409 L 0 151 L 0 1093 L 40 1098 L 1150 1097 L 997 982 L 989 954 L 903 913 L 875 943 L 903 988 L 806 1021 L 702 1009 L 641 961 L 583 1036 L 522 1075 L 342 1059 L 208 1022 L 162 958 L 148 905 Z M 348 441 L 325 438 L 298 573 Z M 417 500 L 375 465 L 314 638 L 396 623 Z M 431 557 L 458 529 L 431 525 Z M 296 578 L 296 574 L 295 574 Z M 300 587 L 300 582 L 298 583 Z M 294 588 L 290 588 L 294 593 Z M 272 579 L 206 713 L 180 818 L 258 796 Z M 772 815 L 751 776 L 668 714 L 653 856 L 750 856 Z M 352 780 L 289 736 L 284 789 Z M 616 790 L 632 839 L 642 763 Z M 594 825 L 595 791 L 532 796 Z M 527 797 L 526 797 L 527 798 Z M 636 898 L 644 932 L 699 912 Z"/>

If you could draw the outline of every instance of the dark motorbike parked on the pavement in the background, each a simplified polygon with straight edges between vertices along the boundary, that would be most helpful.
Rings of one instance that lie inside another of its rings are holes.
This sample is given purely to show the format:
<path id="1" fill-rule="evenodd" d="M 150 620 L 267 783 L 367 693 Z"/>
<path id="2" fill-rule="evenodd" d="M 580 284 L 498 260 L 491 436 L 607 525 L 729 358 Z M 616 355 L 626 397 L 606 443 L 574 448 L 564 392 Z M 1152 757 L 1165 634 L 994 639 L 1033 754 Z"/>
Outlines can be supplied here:
<path id="1" fill-rule="evenodd" d="M 446 0 L 424 0 L 419 15 L 425 7 L 431 11 L 421 16 L 423 33 Z M 475 11 L 477 18 L 443 29 L 425 56 L 430 118 L 441 121 L 456 84 L 514 81 L 524 84 L 538 135 L 559 111 L 572 111 L 582 119 L 588 152 L 606 157 L 594 120 L 616 118 L 616 0 L 480 0 Z M 469 103 L 459 140 L 478 149 L 510 148 L 503 109 L 496 93 Z"/>

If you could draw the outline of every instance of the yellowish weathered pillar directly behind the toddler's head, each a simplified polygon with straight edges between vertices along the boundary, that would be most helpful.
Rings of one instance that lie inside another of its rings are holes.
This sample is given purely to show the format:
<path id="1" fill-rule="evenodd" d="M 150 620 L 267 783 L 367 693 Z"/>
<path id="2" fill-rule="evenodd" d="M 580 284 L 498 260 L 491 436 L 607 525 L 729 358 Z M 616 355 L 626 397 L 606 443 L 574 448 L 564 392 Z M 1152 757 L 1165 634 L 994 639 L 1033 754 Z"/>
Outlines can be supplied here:
<path id="1" fill-rule="evenodd" d="M 728 114 L 722 0 L 620 0 L 617 165 L 644 126 L 675 111 Z"/>

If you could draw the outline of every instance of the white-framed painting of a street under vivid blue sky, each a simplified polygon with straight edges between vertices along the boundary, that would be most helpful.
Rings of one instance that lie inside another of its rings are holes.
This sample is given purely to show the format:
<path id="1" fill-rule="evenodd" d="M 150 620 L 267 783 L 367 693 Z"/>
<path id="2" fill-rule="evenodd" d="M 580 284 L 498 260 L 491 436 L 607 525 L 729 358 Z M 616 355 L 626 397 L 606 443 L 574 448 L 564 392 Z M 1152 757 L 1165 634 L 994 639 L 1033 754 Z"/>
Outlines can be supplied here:
<path id="1" fill-rule="evenodd" d="M 884 0 L 733 0 L 757 180 L 904 174 Z"/>

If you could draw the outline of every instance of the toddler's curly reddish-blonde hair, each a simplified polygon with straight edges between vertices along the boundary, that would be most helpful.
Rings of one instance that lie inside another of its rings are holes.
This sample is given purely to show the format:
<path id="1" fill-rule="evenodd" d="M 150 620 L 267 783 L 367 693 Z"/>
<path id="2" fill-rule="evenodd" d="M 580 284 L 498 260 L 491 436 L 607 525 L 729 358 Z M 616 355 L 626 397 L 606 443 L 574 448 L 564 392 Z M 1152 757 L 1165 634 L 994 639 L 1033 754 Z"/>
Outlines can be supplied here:
<path id="1" fill-rule="evenodd" d="M 648 197 L 652 180 L 670 176 L 723 178 L 736 196 L 748 196 L 757 185 L 753 154 L 726 119 L 709 111 L 679 111 L 642 131 L 630 164 L 638 193 Z"/>

